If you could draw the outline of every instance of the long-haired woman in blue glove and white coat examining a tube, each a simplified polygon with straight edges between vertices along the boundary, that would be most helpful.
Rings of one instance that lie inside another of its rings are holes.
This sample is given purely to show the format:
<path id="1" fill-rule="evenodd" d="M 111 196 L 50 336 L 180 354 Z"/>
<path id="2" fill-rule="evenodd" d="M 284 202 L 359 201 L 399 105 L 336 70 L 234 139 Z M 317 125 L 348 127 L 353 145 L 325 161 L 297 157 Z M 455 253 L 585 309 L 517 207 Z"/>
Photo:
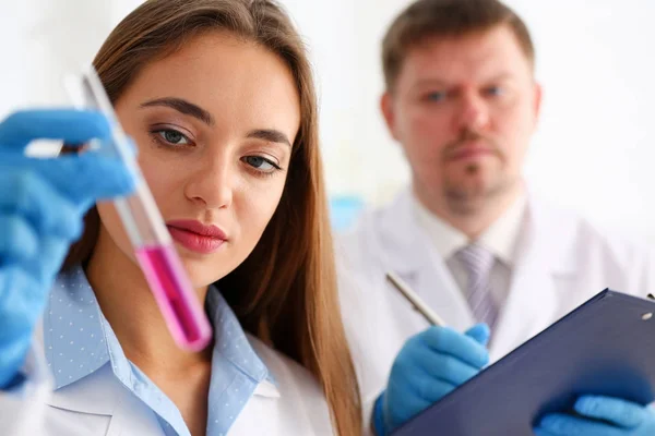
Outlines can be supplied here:
<path id="1" fill-rule="evenodd" d="M 22 154 L 36 137 L 107 136 L 97 113 L 14 114 L 0 124 L 0 427 L 25 410 L 34 371 L 19 368 L 36 329 L 56 385 L 47 435 L 361 433 L 315 95 L 288 17 L 265 0 L 151 0 L 94 65 L 214 343 L 174 344 L 110 203 L 86 214 L 57 274 L 82 210 L 131 182 L 94 153 Z"/>

